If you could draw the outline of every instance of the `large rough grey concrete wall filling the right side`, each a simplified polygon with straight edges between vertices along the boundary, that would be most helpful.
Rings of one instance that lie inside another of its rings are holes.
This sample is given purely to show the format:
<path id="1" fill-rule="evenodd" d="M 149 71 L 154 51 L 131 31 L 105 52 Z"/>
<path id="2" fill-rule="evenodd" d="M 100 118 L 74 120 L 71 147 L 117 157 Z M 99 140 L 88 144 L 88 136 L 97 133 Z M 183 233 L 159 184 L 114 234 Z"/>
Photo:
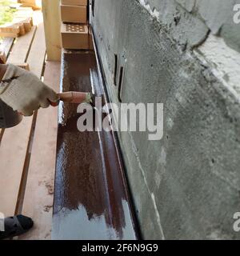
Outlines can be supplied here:
<path id="1" fill-rule="evenodd" d="M 240 211 L 240 25 L 230 22 L 233 2 L 94 3 L 111 101 L 119 104 L 116 54 L 117 80 L 124 68 L 122 102 L 164 103 L 161 141 L 119 133 L 143 238 L 240 238 L 233 230 Z"/>

